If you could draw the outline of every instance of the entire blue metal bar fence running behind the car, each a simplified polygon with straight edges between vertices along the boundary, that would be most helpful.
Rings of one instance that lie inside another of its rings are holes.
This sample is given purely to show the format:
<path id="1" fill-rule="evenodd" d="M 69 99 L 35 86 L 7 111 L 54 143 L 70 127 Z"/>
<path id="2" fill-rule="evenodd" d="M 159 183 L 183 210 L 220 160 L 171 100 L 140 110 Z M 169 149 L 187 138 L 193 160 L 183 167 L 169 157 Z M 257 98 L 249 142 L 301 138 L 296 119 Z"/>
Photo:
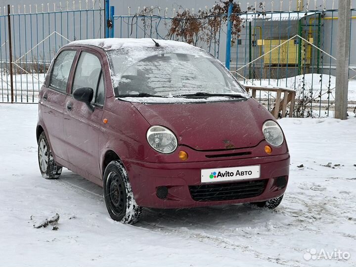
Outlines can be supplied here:
<path id="1" fill-rule="evenodd" d="M 11 101 L 10 47 L 13 101 L 37 102 L 51 59 L 69 41 L 120 37 L 187 42 L 170 34 L 174 18 L 183 10 L 155 7 L 116 15 L 109 1 L 105 1 L 105 7 L 101 1 L 86 1 L 84 6 L 81 3 L 11 6 L 9 13 L 5 7 L 0 9 L 0 101 Z M 226 41 L 231 29 L 223 23 L 204 40 L 197 38 L 194 45 L 229 63 L 226 65 L 230 71 L 244 84 L 295 89 L 295 116 L 333 116 L 338 10 L 267 11 L 265 6 L 257 9 L 255 6 L 233 14 L 241 22 L 238 34 L 231 36 L 231 43 Z M 356 42 L 355 12 L 356 9 L 351 10 L 351 47 Z M 222 21 L 229 15 L 219 14 L 217 19 Z M 355 53 L 351 53 L 349 63 L 349 111 L 352 112 L 356 106 Z M 259 91 L 256 97 L 269 110 L 274 107 L 273 93 Z"/>

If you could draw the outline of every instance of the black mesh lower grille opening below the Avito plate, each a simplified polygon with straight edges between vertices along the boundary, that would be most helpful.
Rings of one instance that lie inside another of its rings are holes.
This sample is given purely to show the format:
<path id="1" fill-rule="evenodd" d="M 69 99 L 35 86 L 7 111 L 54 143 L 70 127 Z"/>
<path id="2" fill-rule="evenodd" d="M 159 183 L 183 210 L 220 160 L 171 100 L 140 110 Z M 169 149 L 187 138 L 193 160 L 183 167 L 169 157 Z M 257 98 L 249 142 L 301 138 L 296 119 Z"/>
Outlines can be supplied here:
<path id="1" fill-rule="evenodd" d="M 189 186 L 189 191 L 195 201 L 234 200 L 259 196 L 265 190 L 266 184 L 267 179 L 201 184 Z"/>

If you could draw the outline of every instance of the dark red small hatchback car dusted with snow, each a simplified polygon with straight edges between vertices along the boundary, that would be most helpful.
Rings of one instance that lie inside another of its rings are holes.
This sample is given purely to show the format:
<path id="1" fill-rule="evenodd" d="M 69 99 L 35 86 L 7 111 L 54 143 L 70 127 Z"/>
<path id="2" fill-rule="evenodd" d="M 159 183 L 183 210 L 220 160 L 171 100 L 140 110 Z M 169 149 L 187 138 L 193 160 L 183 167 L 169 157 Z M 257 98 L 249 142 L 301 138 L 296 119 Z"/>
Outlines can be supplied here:
<path id="1" fill-rule="evenodd" d="M 289 176 L 278 123 L 221 62 L 175 41 L 75 41 L 40 90 L 38 160 L 103 186 L 113 220 L 142 207 L 275 208 Z"/>

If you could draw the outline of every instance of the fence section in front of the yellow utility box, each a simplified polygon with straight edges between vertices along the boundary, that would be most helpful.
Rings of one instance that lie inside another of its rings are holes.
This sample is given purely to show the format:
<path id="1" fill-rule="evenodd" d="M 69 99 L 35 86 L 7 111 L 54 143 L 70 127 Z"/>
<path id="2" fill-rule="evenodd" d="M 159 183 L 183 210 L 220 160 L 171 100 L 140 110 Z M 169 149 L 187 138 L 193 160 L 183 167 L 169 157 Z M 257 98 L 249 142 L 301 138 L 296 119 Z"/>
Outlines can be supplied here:
<path id="1" fill-rule="evenodd" d="M 355 13 L 355 10 L 351 10 Z M 296 90 L 295 116 L 333 116 L 338 10 L 241 14 L 244 26 L 231 47 L 231 71 L 243 83 Z M 356 26 L 351 22 L 351 47 Z M 356 106 L 356 54 L 349 68 L 349 112 Z M 275 95 L 260 91 L 268 109 Z"/>

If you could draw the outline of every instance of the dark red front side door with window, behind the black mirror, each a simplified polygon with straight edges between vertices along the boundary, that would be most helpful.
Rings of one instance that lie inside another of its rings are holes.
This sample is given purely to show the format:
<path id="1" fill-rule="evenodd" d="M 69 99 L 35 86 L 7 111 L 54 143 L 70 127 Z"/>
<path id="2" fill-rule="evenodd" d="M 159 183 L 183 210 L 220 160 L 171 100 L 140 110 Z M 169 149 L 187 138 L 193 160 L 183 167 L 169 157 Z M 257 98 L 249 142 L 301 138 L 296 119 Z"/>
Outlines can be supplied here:
<path id="1" fill-rule="evenodd" d="M 89 179 L 91 176 L 101 178 L 98 139 L 105 104 L 102 66 L 100 53 L 82 48 L 64 107 L 64 135 L 69 143 L 67 153 L 74 165 L 73 171 L 84 174 Z M 94 91 L 91 101 L 94 105 L 93 112 L 85 103 L 73 98 L 73 91 L 84 87 Z"/>

